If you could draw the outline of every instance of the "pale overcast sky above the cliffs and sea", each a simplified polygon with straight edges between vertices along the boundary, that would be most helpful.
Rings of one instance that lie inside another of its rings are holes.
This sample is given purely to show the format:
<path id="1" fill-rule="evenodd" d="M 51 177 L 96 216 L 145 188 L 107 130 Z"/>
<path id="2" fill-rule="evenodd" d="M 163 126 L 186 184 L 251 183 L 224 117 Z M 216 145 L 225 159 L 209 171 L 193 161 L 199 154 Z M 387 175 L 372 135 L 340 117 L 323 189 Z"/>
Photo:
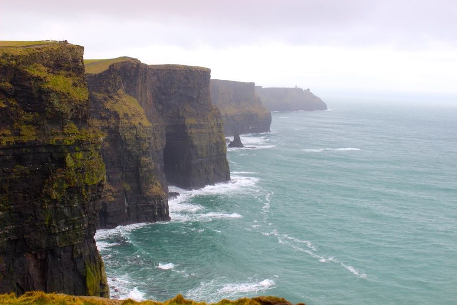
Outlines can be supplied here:
<path id="1" fill-rule="evenodd" d="M 211 68 L 316 95 L 457 95 L 456 0 L 0 0 L 0 40 Z"/>

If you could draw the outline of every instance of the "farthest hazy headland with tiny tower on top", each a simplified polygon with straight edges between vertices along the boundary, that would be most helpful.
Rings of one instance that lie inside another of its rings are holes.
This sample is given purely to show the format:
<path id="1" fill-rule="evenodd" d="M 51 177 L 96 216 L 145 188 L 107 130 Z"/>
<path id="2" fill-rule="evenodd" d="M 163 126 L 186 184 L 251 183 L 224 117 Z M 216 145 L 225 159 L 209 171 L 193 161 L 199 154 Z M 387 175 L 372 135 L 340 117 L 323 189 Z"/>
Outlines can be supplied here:
<path id="1" fill-rule="evenodd" d="M 309 89 L 255 86 L 255 92 L 271 111 L 327 110 L 327 105 Z"/>

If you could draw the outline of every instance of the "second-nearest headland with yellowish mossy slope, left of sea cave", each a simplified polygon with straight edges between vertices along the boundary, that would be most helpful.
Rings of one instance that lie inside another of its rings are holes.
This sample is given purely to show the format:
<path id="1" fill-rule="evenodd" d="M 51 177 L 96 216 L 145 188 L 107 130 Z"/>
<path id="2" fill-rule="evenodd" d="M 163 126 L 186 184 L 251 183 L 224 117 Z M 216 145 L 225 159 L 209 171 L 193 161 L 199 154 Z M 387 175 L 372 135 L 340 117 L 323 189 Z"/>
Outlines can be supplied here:
<path id="1" fill-rule="evenodd" d="M 87 70 L 91 71 L 90 65 Z M 166 185 L 159 181 L 163 174 L 152 155 L 152 150 L 163 149 L 165 142 L 158 140 L 157 134 L 153 137 L 157 126 L 150 123 L 138 100 L 125 93 L 115 69 L 86 77 L 90 124 L 105 134 L 102 156 L 107 183 L 99 228 L 170 220 Z"/>

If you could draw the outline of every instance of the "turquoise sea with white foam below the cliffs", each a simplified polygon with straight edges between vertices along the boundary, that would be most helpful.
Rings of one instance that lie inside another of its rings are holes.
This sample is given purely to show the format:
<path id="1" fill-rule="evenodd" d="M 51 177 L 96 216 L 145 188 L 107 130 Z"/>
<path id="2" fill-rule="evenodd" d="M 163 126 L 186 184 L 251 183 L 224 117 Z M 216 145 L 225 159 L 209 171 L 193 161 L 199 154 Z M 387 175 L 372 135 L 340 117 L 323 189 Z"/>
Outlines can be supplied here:
<path id="1" fill-rule="evenodd" d="M 173 221 L 100 230 L 111 296 L 457 303 L 457 108 L 274 112 Z"/>

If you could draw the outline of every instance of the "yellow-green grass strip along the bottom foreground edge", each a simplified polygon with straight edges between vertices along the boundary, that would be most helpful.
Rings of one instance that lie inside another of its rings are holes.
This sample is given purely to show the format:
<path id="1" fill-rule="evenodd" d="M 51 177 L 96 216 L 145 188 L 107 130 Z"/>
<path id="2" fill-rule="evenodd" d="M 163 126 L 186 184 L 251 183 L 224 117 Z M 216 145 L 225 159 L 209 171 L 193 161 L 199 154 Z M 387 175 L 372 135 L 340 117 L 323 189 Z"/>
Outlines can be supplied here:
<path id="1" fill-rule="evenodd" d="M 185 299 L 178 294 L 164 302 L 141 301 L 131 299 L 115 300 L 102 297 L 72 296 L 67 294 L 44 293 L 42 291 L 30 291 L 16 297 L 14 293 L 0 294 L 2 305 L 208 305 L 205 302 L 195 302 Z M 287 300 L 274 296 L 259 296 L 253 298 L 241 298 L 235 301 L 223 299 L 211 305 L 292 305 Z M 305 305 L 299 303 L 297 305 Z"/>

